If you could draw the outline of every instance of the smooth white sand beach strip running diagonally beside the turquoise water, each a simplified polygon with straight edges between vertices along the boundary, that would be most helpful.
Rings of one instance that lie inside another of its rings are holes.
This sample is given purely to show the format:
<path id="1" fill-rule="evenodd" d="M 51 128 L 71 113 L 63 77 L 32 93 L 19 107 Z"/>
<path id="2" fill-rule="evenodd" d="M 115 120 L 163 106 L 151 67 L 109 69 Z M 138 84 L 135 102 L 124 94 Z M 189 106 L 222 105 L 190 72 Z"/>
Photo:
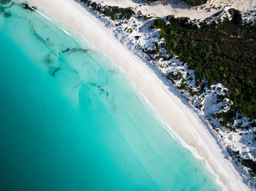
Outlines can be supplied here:
<path id="1" fill-rule="evenodd" d="M 249 190 L 230 161 L 224 158 L 222 149 L 197 115 L 170 92 L 170 87 L 146 63 L 126 50 L 97 18 L 73 0 L 29 1 L 46 15 L 63 23 L 64 29 L 68 30 L 70 27 L 78 31 L 97 50 L 110 57 L 178 136 L 189 146 L 195 147 L 199 156 L 206 158 L 227 190 Z"/>

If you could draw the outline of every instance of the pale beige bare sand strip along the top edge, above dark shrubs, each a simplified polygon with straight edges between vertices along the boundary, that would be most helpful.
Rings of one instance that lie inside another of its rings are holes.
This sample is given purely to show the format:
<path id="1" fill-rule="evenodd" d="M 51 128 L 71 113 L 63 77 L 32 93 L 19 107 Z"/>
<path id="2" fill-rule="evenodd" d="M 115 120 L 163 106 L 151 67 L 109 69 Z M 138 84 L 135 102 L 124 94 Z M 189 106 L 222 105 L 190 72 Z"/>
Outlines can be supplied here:
<path id="1" fill-rule="evenodd" d="M 175 15 L 176 17 L 190 17 L 191 19 L 205 19 L 222 9 L 239 9 L 241 12 L 256 9 L 254 0 L 210 0 L 202 6 L 192 7 L 180 0 L 158 1 L 153 4 L 144 4 L 141 0 L 95 0 L 103 5 L 118 7 L 136 7 L 144 15 L 165 17 Z"/>

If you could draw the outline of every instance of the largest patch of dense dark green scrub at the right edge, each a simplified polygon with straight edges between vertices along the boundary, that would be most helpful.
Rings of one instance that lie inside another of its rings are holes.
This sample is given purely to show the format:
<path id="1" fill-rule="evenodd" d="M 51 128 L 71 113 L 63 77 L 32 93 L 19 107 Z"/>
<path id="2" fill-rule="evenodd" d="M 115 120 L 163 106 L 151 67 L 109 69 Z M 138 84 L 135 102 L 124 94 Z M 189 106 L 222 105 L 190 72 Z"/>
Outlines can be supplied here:
<path id="1" fill-rule="evenodd" d="M 167 16 L 154 20 L 151 28 L 160 29 L 161 44 L 170 55 L 195 70 L 201 91 L 216 83 L 228 88 L 227 98 L 233 102 L 230 112 L 220 114 L 227 127 L 236 112 L 256 119 L 256 26 L 242 24 L 241 13 L 230 9 L 231 20 L 206 22 L 197 26 L 187 17 Z"/>

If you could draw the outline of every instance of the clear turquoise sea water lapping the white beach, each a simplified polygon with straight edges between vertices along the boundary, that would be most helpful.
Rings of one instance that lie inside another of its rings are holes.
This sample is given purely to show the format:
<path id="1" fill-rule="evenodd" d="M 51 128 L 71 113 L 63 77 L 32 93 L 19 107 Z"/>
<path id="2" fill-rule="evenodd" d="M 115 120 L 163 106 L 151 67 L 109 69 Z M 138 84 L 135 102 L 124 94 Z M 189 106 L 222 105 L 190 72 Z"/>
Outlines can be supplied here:
<path id="1" fill-rule="evenodd" d="M 0 190 L 220 190 L 102 53 L 0 12 Z"/>

